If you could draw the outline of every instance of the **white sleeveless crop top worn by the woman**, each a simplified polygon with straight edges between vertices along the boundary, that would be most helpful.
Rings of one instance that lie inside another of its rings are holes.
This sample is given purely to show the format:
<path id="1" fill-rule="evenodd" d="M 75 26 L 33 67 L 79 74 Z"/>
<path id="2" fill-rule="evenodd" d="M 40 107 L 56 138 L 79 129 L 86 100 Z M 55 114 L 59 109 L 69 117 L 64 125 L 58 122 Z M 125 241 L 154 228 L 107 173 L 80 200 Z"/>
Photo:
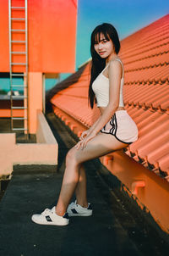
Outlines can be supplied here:
<path id="1" fill-rule="evenodd" d="M 123 63 L 119 58 L 116 58 L 121 64 L 123 68 Z M 106 65 L 108 67 L 109 64 Z M 106 67 L 104 70 L 106 70 Z M 103 75 L 103 71 L 96 77 L 95 81 L 92 83 L 93 92 L 95 92 L 95 97 L 97 100 L 97 107 L 106 107 L 109 103 L 109 78 Z M 124 70 L 123 70 L 124 73 Z M 121 79 L 120 85 L 120 98 L 119 98 L 119 107 L 124 107 L 123 103 L 123 76 Z"/>

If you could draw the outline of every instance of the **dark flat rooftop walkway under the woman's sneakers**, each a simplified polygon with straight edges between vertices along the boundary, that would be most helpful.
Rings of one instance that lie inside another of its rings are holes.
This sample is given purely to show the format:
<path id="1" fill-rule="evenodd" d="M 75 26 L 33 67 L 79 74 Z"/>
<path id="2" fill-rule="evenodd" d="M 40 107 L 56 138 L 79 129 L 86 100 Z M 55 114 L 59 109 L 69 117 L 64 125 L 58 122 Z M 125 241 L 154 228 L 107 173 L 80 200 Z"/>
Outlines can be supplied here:
<path id="1" fill-rule="evenodd" d="M 53 114 L 48 114 L 48 119 L 59 142 L 59 172 L 15 168 L 0 202 L 0 255 L 166 255 L 166 242 L 155 232 L 144 230 L 143 220 L 139 221 L 141 224 L 137 218 L 134 220 L 97 174 L 93 161 L 85 164 L 93 216 L 71 218 L 70 224 L 63 227 L 36 225 L 30 220 L 32 214 L 57 202 L 63 158 L 75 142 L 75 137 Z"/>

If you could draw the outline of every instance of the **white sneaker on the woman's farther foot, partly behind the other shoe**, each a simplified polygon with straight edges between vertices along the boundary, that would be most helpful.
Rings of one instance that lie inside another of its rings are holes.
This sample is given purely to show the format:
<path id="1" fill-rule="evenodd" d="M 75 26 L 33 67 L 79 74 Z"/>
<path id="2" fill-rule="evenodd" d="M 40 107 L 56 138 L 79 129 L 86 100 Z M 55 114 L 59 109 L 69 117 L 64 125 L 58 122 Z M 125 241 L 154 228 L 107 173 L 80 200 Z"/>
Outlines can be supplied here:
<path id="1" fill-rule="evenodd" d="M 70 203 L 68 205 L 68 209 L 67 209 L 67 213 L 68 216 L 72 217 L 72 216 L 90 216 L 92 215 L 92 208 L 91 208 L 91 204 L 88 203 L 88 207 L 82 207 L 81 205 L 76 203 L 77 200 L 75 200 L 73 203 Z"/>

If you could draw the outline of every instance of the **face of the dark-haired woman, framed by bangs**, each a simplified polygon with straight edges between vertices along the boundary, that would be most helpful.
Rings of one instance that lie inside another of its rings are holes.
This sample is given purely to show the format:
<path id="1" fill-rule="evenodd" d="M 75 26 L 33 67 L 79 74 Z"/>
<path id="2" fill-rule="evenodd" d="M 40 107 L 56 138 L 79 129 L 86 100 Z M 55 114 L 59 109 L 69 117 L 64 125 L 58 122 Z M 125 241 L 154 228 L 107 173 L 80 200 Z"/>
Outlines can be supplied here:
<path id="1" fill-rule="evenodd" d="M 99 35 L 97 35 L 99 36 Z M 95 52 L 98 53 L 101 58 L 111 58 L 115 53 L 112 40 L 107 41 L 104 34 L 101 33 L 101 41 L 99 40 L 94 44 Z"/>

